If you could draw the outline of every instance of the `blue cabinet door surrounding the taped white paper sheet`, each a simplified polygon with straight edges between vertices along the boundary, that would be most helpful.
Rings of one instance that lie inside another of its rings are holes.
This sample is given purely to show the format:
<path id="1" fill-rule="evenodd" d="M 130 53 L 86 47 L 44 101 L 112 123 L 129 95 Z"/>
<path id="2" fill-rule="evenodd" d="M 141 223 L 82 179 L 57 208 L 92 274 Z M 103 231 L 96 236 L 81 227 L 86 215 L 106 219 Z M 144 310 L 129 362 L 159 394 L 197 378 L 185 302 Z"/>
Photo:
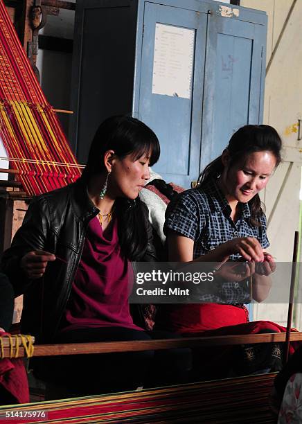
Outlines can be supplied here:
<path id="1" fill-rule="evenodd" d="M 159 137 L 161 158 L 153 169 L 167 182 L 184 187 L 189 187 L 199 173 L 206 21 L 206 13 L 145 2 L 139 107 L 134 116 L 147 123 Z M 194 31 L 192 84 L 187 97 L 152 92 L 158 24 L 171 26 L 171 30 Z"/>

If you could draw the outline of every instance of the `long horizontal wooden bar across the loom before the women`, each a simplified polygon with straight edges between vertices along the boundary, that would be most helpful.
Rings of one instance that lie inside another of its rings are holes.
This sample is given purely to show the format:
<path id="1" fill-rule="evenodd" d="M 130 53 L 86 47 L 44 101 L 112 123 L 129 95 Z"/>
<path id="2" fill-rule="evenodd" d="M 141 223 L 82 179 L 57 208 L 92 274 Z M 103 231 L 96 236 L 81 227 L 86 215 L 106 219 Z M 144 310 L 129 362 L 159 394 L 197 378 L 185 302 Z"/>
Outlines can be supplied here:
<path id="1" fill-rule="evenodd" d="M 211 346 L 232 346 L 236 344 L 285 342 L 285 333 L 258 333 L 215 337 L 181 337 L 179 339 L 136 340 L 131 342 L 98 342 L 69 344 L 37 344 L 33 356 L 86 355 L 89 353 L 116 353 L 159 351 L 171 348 L 206 348 Z M 302 341 L 302 333 L 292 332 L 293 341 Z M 9 348 L 4 348 L 4 357 L 9 357 Z M 19 349 L 19 356 L 24 348 Z"/>

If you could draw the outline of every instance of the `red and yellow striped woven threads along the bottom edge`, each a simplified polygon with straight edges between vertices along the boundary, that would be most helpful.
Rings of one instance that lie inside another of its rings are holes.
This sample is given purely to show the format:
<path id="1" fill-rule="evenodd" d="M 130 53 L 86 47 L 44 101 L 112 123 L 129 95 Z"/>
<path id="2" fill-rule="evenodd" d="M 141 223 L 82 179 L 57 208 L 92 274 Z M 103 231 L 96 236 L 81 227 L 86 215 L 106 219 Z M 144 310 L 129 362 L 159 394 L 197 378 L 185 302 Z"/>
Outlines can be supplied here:
<path id="1" fill-rule="evenodd" d="M 52 400 L 0 407 L 6 411 L 44 412 L 18 423 L 274 423 L 268 395 L 276 374 L 166 387 L 125 394 Z M 6 418 L 5 423 L 16 423 Z"/>

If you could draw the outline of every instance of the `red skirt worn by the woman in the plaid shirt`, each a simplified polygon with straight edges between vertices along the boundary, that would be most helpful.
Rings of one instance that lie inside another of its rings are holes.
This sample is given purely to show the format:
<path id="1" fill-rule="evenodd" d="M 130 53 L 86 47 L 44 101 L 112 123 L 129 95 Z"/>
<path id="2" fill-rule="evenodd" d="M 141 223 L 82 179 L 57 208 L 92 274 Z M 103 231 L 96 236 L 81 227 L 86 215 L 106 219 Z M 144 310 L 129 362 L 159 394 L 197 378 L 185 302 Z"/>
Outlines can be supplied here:
<path id="1" fill-rule="evenodd" d="M 159 326 L 184 337 L 285 333 L 286 328 L 272 321 L 249 322 L 245 306 L 217 303 L 167 305 L 159 312 Z M 290 344 L 290 355 L 299 342 Z M 249 344 L 193 349 L 196 380 L 245 375 L 264 369 L 279 371 L 282 345 Z"/>

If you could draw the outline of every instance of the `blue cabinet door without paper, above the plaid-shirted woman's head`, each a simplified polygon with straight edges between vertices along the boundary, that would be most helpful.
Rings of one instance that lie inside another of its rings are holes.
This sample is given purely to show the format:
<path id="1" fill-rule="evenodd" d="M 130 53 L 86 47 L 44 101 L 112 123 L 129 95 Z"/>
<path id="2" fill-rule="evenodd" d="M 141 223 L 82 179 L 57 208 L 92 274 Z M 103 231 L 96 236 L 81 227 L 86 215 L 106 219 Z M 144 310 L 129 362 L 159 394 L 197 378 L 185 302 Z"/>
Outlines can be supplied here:
<path id="1" fill-rule="evenodd" d="M 266 29 L 215 13 L 208 17 L 201 170 L 239 127 L 262 122 Z"/>

